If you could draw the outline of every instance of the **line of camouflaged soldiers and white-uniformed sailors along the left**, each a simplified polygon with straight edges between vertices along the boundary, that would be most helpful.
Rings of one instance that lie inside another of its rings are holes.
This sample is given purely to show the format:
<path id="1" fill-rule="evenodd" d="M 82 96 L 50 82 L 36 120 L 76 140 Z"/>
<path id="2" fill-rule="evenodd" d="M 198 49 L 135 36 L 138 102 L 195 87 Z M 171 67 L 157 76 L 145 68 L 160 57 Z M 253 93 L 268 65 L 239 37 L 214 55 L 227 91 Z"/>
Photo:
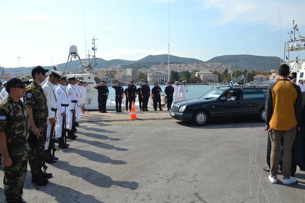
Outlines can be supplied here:
<path id="1" fill-rule="evenodd" d="M 21 195 L 27 162 L 32 183 L 40 186 L 48 183 L 52 174 L 46 172 L 45 162 L 54 163 L 58 159 L 54 156 L 54 143 L 58 140 L 58 147 L 67 149 L 67 138 L 77 137 L 76 120 L 86 111 L 85 81 L 52 70 L 41 86 L 48 71 L 36 66 L 32 70 L 33 82 L 11 79 L 0 95 L 0 151 L 6 202 L 25 202 Z"/>

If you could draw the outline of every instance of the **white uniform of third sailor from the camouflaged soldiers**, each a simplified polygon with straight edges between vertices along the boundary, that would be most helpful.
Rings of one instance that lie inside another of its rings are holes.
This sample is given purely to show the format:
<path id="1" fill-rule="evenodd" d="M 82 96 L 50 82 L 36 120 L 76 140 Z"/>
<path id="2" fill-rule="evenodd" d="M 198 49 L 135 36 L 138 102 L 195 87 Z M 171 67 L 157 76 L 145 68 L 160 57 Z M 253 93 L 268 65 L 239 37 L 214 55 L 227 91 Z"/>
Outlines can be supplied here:
<path id="1" fill-rule="evenodd" d="M 72 118 L 73 118 L 73 114 L 71 112 L 71 110 L 75 110 L 76 112 L 76 107 L 77 107 L 77 94 L 78 94 L 78 90 L 77 88 L 75 87 L 75 85 L 71 85 L 69 84 L 67 86 L 67 93 L 68 93 L 68 101 L 69 101 L 69 112 L 68 112 L 68 128 L 69 130 L 72 129 Z M 76 101 L 73 102 L 73 101 Z"/>

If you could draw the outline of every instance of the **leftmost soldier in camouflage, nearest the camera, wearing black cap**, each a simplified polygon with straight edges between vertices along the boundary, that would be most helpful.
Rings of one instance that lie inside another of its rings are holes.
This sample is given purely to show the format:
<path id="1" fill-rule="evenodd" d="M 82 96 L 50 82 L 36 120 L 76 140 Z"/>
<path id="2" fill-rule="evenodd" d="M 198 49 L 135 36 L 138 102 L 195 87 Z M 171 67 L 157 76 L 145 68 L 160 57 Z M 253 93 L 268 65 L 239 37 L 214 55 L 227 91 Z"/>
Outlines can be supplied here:
<path id="1" fill-rule="evenodd" d="M 3 154 L 4 194 L 6 202 L 25 202 L 25 181 L 29 146 L 28 112 L 20 100 L 25 95 L 28 81 L 14 78 L 7 82 L 9 96 L 0 105 L 0 151 Z"/>

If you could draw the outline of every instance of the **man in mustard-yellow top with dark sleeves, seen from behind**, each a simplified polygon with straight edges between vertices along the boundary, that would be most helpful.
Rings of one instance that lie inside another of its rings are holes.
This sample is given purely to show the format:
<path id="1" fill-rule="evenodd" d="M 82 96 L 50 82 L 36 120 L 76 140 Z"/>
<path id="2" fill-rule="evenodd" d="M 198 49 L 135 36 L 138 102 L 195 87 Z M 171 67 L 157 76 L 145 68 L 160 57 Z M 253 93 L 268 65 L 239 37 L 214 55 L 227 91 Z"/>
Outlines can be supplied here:
<path id="1" fill-rule="evenodd" d="M 277 183 L 279 152 L 283 142 L 283 184 L 295 183 L 291 177 L 292 146 L 296 130 L 300 131 L 302 96 L 299 86 L 288 79 L 289 66 L 279 66 L 280 81 L 269 85 L 265 103 L 266 126 L 271 140 L 270 175 L 271 183 Z"/>

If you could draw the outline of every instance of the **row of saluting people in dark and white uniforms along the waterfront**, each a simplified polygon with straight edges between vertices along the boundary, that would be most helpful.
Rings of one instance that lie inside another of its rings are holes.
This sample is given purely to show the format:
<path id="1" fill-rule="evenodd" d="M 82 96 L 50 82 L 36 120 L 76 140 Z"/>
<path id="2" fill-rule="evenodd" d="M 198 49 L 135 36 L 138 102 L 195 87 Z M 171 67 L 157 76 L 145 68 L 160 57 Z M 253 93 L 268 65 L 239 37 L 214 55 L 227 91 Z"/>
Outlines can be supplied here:
<path id="1" fill-rule="evenodd" d="M 161 104 L 161 96 L 166 97 L 167 110 L 171 108 L 172 102 L 186 100 L 188 96 L 188 86 L 186 85 L 186 81 L 182 81 L 182 85 L 179 86 L 179 82 L 176 81 L 174 86 L 171 86 L 171 82 L 168 82 L 168 85 L 161 89 L 158 82 L 154 84 L 154 87 L 151 88 L 148 85 L 148 81 L 144 81 L 144 84 L 140 83 L 140 87 L 136 87 L 134 82 L 131 81 L 128 84 L 127 88 L 121 87 L 120 82 L 111 85 L 112 88 L 115 89 L 115 109 L 116 112 L 121 111 L 122 99 L 125 95 L 125 106 L 126 111 L 131 111 L 132 102 L 135 103 L 136 98 L 138 96 L 139 108 L 140 111 L 149 111 L 148 110 L 148 100 L 151 96 L 153 99 L 154 111 L 157 111 L 158 104 L 159 110 L 163 111 Z M 102 81 L 101 83 L 94 86 L 95 89 L 98 90 L 98 102 L 99 102 L 99 111 L 100 113 L 107 113 L 106 111 L 106 103 L 107 98 L 109 96 L 109 89 L 106 86 L 106 81 Z M 165 96 L 166 94 L 166 96 Z"/>

